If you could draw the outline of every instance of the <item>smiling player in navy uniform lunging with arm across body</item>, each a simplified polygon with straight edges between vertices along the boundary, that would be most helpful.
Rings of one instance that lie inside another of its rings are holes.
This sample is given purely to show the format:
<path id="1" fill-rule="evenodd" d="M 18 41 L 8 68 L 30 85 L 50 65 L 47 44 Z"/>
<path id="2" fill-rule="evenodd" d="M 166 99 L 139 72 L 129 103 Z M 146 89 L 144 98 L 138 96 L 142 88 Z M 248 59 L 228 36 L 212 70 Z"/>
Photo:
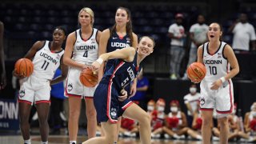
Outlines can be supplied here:
<path id="1" fill-rule="evenodd" d="M 133 47 L 114 50 L 102 54 L 92 64 L 98 70 L 102 62 L 115 59 L 110 70 L 106 71 L 94 93 L 94 106 L 97 110 L 98 122 L 101 122 L 104 137 L 90 138 L 83 144 L 114 143 L 117 134 L 117 122 L 121 116 L 139 122 L 139 135 L 143 144 L 150 143 L 150 116 L 128 98 L 125 86 L 136 78 L 141 70 L 140 63 L 154 50 L 154 39 L 142 37 L 138 43 L 138 51 Z M 120 96 L 121 94 L 121 96 Z"/>

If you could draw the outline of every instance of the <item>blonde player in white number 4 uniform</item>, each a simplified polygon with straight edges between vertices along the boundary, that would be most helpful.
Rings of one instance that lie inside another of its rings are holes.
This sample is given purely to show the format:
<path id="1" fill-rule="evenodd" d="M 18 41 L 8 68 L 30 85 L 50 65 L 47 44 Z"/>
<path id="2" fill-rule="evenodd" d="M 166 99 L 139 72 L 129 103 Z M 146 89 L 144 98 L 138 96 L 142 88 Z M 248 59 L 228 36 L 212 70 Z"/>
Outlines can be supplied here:
<path id="1" fill-rule="evenodd" d="M 69 34 L 66 40 L 64 63 L 70 66 L 66 79 L 65 94 L 69 97 L 69 137 L 70 143 L 76 144 L 78 134 L 78 119 L 80 115 L 81 99 L 86 102 L 86 117 L 88 138 L 96 136 L 97 121 L 94 108 L 94 87 L 83 86 L 79 80 L 81 70 L 90 67 L 98 58 L 98 42 L 101 32 L 93 28 L 94 11 L 88 7 L 82 8 L 78 14 L 81 29 Z M 73 53 L 73 54 L 72 54 Z"/>

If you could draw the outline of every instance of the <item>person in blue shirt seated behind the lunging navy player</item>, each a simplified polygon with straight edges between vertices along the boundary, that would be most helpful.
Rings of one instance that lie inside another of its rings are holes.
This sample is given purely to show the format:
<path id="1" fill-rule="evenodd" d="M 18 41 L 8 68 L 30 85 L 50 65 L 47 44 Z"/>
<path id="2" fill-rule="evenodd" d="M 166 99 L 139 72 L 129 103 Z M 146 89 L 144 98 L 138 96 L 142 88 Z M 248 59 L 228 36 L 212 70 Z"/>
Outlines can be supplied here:
<path id="1" fill-rule="evenodd" d="M 149 84 L 149 80 L 143 76 L 143 70 L 141 70 L 137 78 L 136 94 L 130 100 L 138 101 L 138 106 L 141 106 L 143 110 L 146 110 L 146 91 L 149 88 Z"/>

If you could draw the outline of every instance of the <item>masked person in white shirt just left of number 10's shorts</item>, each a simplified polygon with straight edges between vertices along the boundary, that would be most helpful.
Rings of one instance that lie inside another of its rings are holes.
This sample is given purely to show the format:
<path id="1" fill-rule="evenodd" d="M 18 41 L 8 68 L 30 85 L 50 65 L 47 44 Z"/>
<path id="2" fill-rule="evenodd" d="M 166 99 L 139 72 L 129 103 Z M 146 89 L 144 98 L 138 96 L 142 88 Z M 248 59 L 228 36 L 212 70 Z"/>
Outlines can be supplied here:
<path id="1" fill-rule="evenodd" d="M 198 110 L 198 102 L 199 102 L 200 94 L 197 92 L 197 86 L 192 84 L 190 86 L 190 94 L 186 94 L 184 96 L 184 103 L 187 109 L 187 121 L 188 126 L 191 127 L 193 122 L 193 114 L 195 110 Z"/>

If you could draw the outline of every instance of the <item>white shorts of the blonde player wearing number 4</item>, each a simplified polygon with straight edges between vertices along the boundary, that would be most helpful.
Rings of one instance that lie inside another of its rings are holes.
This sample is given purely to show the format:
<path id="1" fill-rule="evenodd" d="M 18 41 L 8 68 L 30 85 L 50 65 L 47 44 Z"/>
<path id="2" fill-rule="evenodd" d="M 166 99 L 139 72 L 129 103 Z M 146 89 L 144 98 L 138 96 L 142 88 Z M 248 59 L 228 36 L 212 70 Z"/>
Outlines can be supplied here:
<path id="1" fill-rule="evenodd" d="M 84 97 L 84 98 L 93 98 L 94 91 L 96 87 L 86 87 L 83 86 L 80 82 L 80 69 L 76 69 L 74 67 L 70 67 L 69 74 L 66 78 L 66 88 L 65 95 L 66 97 L 74 96 L 74 97 Z"/>

